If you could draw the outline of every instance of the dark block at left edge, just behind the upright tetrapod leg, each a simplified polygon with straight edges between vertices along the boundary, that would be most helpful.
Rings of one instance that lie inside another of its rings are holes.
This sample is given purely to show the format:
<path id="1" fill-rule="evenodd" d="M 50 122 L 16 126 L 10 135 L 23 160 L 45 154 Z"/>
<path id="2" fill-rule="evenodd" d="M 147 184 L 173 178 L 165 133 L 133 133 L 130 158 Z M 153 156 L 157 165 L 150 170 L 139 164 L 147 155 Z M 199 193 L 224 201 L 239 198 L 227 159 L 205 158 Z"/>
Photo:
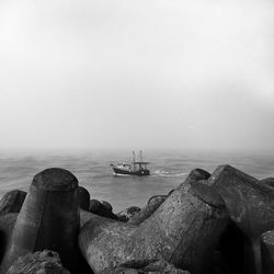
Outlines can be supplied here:
<path id="1" fill-rule="evenodd" d="M 25 201 L 25 196 L 26 192 L 19 190 L 5 193 L 0 201 L 0 215 L 19 213 Z"/>

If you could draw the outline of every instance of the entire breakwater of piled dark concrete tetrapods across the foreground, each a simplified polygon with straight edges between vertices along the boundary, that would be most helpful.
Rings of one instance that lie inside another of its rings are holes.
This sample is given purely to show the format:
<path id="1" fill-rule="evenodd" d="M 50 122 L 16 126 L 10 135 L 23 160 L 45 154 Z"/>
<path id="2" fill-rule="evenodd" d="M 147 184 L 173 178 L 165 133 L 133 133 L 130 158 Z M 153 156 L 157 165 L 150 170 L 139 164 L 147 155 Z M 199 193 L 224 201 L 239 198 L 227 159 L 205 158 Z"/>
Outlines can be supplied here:
<path id="1" fill-rule="evenodd" d="M 230 165 L 190 172 L 118 214 L 68 170 L 0 201 L 0 274 L 274 273 L 274 179 Z"/>

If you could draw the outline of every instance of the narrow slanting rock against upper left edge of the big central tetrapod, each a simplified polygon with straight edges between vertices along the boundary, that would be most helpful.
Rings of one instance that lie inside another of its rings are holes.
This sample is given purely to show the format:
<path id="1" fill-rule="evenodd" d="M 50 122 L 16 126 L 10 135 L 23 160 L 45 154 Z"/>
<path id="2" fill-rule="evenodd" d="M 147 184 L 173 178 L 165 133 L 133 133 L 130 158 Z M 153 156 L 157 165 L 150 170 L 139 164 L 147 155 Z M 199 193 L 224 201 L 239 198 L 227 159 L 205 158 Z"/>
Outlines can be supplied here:
<path id="1" fill-rule="evenodd" d="M 157 195 L 150 197 L 147 206 L 129 218 L 128 224 L 139 225 L 142 222 L 155 213 L 155 210 L 165 201 L 165 198 L 167 195 Z"/>

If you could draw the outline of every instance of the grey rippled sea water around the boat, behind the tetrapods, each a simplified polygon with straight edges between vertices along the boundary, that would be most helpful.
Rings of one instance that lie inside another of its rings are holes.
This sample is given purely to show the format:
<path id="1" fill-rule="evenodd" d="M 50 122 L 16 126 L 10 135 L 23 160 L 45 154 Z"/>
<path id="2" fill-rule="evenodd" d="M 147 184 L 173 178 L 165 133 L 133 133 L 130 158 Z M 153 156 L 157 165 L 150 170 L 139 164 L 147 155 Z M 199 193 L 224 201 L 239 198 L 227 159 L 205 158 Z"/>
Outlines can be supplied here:
<path id="1" fill-rule="evenodd" d="M 213 172 L 219 164 L 230 164 L 264 179 L 274 176 L 274 155 L 251 152 L 208 152 L 183 150 L 145 151 L 150 162 L 149 176 L 114 175 L 110 164 L 130 162 L 129 150 L 90 151 L 0 151 L 0 197 L 8 191 L 28 191 L 33 176 L 47 168 L 71 171 L 91 198 L 107 201 L 114 213 L 129 206 L 142 207 L 152 195 L 168 194 L 184 182 L 192 169 Z"/>

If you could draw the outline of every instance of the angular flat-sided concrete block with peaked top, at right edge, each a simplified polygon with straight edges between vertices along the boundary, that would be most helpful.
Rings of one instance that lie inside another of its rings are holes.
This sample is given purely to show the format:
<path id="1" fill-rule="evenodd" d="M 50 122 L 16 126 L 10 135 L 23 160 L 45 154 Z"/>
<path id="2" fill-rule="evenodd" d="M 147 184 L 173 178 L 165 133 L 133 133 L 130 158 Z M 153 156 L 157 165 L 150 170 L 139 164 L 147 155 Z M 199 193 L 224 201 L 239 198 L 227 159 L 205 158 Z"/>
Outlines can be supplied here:
<path id="1" fill-rule="evenodd" d="M 248 236 L 259 236 L 274 228 L 274 191 L 230 165 L 218 167 L 208 186 L 225 203 L 229 217 Z"/>

